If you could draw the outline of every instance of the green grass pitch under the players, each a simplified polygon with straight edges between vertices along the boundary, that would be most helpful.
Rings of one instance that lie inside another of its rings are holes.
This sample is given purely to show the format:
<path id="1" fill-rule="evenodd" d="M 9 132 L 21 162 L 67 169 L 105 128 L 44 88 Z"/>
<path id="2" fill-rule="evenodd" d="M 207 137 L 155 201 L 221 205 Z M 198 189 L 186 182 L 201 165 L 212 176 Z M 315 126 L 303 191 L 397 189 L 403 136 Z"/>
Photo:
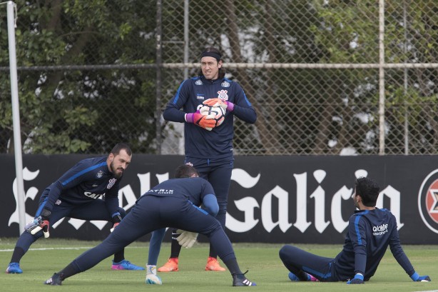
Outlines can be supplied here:
<path id="1" fill-rule="evenodd" d="M 4 270 L 11 258 L 16 238 L 0 238 L 0 263 Z M 204 271 L 208 256 L 208 245 L 197 243 L 193 248 L 183 249 L 180 256 L 180 271 L 158 273 L 163 286 L 144 283 L 144 271 L 111 271 L 111 259 L 106 258 L 94 268 L 68 278 L 60 287 L 46 286 L 43 282 L 54 272 L 61 270 L 73 258 L 86 249 L 96 246 L 97 241 L 40 239 L 21 260 L 22 274 L 0 273 L 0 291 L 293 291 L 293 292 L 342 292 L 342 291 L 438 291 L 438 246 L 404 246 L 404 251 L 421 275 L 428 274 L 430 283 L 414 283 L 404 273 L 390 251 L 384 256 L 377 273 L 365 285 L 352 287 L 345 283 L 292 283 L 287 271 L 278 258 L 281 244 L 236 243 L 235 253 L 242 271 L 249 270 L 247 276 L 258 286 L 248 288 L 233 287 L 227 272 Z M 335 256 L 342 246 L 297 245 L 320 256 Z M 88 247 L 88 248 L 83 248 Z M 53 248 L 39 250 L 38 248 Z M 8 251 L 9 250 L 9 251 Z M 170 244 L 163 243 L 158 265 L 161 266 L 170 253 Z M 137 265 L 144 265 L 148 256 L 148 242 L 135 242 L 126 248 L 126 258 Z"/>

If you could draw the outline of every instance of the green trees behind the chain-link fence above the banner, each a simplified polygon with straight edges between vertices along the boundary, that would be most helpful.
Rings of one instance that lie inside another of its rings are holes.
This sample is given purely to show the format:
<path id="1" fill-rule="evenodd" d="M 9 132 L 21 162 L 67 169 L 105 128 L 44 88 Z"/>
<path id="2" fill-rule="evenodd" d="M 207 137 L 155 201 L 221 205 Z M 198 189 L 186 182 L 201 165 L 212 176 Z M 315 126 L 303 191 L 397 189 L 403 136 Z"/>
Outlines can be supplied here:
<path id="1" fill-rule="evenodd" d="M 386 154 L 435 154 L 438 2 L 384 1 L 384 62 L 400 66 L 384 70 L 383 122 L 378 2 L 187 1 L 184 26 L 182 0 L 15 1 L 24 151 L 126 141 L 182 153 L 183 125 L 161 111 L 217 46 L 258 113 L 255 125 L 235 120 L 237 155 L 377 154 L 380 129 Z M 0 152 L 12 153 L 6 5 L 0 18 Z"/>

